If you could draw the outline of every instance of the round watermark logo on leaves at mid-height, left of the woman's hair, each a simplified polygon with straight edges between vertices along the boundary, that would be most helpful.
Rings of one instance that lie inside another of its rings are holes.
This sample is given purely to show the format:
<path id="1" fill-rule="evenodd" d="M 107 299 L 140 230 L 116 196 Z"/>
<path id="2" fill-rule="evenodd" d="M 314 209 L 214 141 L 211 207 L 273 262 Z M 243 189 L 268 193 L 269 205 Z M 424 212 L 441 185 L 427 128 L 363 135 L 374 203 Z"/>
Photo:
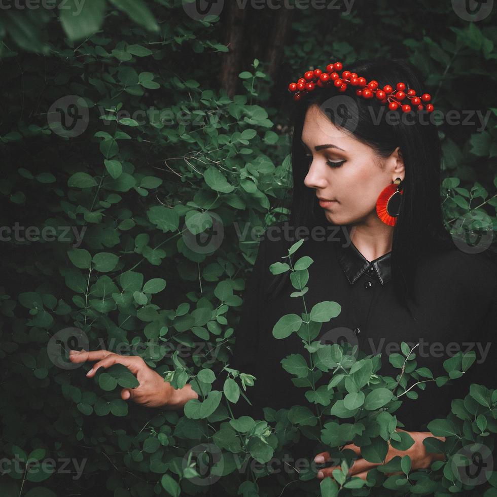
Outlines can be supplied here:
<path id="1" fill-rule="evenodd" d="M 210 219 L 209 219 L 210 218 Z M 224 224 L 216 212 L 204 212 L 196 217 L 195 222 L 186 223 L 181 229 L 185 245 L 197 254 L 211 254 L 218 250 L 224 239 Z"/>

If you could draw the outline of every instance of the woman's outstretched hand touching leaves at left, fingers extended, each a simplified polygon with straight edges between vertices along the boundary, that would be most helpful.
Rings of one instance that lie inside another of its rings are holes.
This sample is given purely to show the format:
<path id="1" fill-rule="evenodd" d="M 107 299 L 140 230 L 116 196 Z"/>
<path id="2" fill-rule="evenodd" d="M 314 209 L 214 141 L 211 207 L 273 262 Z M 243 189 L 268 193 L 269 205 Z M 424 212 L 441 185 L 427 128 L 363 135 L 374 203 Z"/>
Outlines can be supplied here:
<path id="1" fill-rule="evenodd" d="M 108 368 L 113 364 L 126 366 L 139 381 L 136 388 L 123 388 L 121 398 L 131 399 L 145 407 L 162 407 L 165 409 L 179 409 L 190 399 L 196 399 L 197 394 L 189 384 L 182 389 L 175 389 L 168 381 L 149 368 L 145 361 L 139 356 L 121 356 L 109 350 L 69 350 L 69 360 L 73 363 L 84 363 L 86 361 L 98 361 L 93 368 L 86 373 L 88 378 L 95 376 L 98 368 Z"/>

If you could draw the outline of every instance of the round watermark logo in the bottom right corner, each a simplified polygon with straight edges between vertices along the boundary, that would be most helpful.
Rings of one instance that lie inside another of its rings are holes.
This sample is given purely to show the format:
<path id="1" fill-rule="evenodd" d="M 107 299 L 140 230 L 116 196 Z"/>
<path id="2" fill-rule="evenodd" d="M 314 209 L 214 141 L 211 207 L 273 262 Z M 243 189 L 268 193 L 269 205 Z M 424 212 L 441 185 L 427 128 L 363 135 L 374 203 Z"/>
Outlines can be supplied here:
<path id="1" fill-rule="evenodd" d="M 492 451 L 486 445 L 479 443 L 465 445 L 454 454 L 450 467 L 461 483 L 471 486 L 481 485 L 492 476 Z"/>

